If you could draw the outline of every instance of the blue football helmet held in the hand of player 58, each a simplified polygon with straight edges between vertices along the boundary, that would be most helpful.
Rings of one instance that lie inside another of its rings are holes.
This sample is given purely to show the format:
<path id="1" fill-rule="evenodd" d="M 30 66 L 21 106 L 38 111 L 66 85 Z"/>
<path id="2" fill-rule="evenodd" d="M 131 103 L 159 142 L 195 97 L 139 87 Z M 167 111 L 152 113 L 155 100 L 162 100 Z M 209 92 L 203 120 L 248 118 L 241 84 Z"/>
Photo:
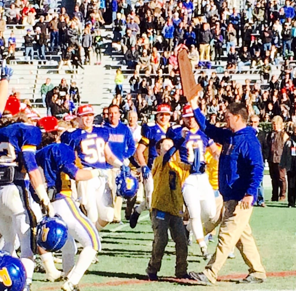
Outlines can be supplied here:
<path id="1" fill-rule="evenodd" d="M 117 186 L 117 196 L 123 198 L 133 198 L 138 190 L 138 180 L 132 176 L 130 167 L 123 167 L 120 174 L 115 179 Z"/>

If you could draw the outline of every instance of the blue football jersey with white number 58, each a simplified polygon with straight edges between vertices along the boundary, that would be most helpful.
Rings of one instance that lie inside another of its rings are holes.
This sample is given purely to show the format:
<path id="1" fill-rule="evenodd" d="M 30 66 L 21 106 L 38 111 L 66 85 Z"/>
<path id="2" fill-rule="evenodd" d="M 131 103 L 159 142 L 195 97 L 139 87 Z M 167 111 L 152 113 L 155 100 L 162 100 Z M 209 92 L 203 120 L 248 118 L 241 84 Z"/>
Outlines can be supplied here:
<path id="1" fill-rule="evenodd" d="M 106 169 L 105 144 L 109 139 L 107 128 L 93 126 L 91 132 L 74 130 L 69 137 L 70 147 L 77 152 L 83 167 Z"/>

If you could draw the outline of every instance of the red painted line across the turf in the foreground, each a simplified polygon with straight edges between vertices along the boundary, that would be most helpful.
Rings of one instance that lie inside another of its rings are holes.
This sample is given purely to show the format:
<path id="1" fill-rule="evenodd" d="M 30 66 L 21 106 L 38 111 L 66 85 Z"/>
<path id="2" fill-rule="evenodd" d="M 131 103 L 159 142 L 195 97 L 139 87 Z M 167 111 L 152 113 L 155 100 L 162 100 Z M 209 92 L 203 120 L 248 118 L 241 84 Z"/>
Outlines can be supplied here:
<path id="1" fill-rule="evenodd" d="M 289 276 L 296 276 L 296 270 L 295 271 L 281 271 L 281 272 L 268 272 L 266 273 L 267 277 L 289 277 Z M 218 281 L 221 280 L 231 280 L 231 279 L 240 279 L 246 277 L 247 274 L 230 274 L 226 276 L 218 277 Z M 160 282 L 192 282 L 194 283 L 196 281 L 194 280 L 186 280 L 186 279 L 177 279 L 174 277 L 163 277 L 160 278 Z M 134 285 L 134 284 L 150 284 L 150 283 L 156 283 L 155 281 L 147 281 L 147 280 L 138 280 L 138 279 L 130 279 L 130 280 L 116 280 L 116 281 L 108 281 L 108 282 L 102 282 L 102 283 L 86 283 L 81 284 L 79 287 L 86 288 L 86 287 L 110 287 L 110 286 L 123 286 L 123 285 Z M 59 290 L 59 287 L 55 286 L 48 286 L 43 287 L 42 290 Z M 245 290 L 247 291 L 247 290 Z M 256 291 L 256 290 L 253 290 Z M 264 290 L 261 290 L 264 291 Z M 281 290 L 281 291 L 290 291 L 290 290 Z M 295 291 L 295 290 L 291 290 Z"/>

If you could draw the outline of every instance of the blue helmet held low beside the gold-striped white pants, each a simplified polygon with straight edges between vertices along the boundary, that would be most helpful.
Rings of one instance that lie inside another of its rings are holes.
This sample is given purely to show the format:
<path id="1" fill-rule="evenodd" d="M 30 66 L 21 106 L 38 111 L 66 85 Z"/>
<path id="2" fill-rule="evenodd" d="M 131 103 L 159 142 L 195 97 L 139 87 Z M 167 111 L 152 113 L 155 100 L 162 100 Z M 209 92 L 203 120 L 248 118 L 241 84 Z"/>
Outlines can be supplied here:
<path id="1" fill-rule="evenodd" d="M 37 244 L 48 252 L 60 250 L 68 238 L 68 228 L 58 215 L 44 216 L 37 225 Z"/>

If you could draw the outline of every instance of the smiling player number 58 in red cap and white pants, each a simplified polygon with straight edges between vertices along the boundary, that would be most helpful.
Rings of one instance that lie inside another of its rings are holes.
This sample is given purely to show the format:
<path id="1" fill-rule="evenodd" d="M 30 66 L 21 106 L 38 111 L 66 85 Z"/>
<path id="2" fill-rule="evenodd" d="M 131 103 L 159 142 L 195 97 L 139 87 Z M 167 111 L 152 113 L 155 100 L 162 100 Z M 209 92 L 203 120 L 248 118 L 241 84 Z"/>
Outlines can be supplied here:
<path id="1" fill-rule="evenodd" d="M 86 169 L 106 171 L 106 161 L 120 168 L 123 163 L 114 156 L 108 145 L 109 131 L 105 127 L 94 126 L 94 109 L 91 105 L 78 108 L 79 128 L 68 135 L 68 144 L 77 153 L 77 165 Z M 112 194 L 105 177 L 94 177 L 78 182 L 78 195 L 87 216 L 100 231 L 113 221 L 114 208 Z"/>

